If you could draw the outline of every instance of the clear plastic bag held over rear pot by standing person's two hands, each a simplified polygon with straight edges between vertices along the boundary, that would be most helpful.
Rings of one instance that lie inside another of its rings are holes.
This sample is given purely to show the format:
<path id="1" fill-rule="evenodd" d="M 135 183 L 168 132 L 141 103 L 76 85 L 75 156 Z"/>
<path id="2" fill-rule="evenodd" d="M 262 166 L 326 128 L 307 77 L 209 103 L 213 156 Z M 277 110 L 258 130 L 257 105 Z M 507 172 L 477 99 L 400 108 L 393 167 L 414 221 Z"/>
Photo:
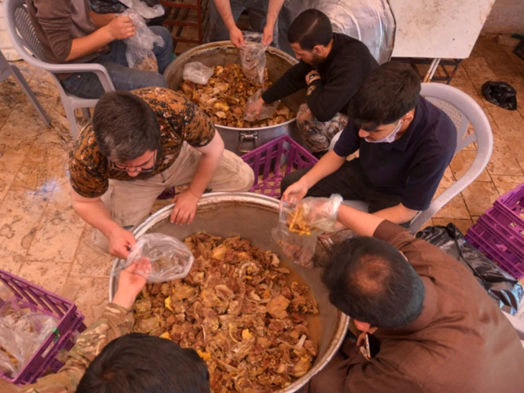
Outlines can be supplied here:
<path id="1" fill-rule="evenodd" d="M 266 48 L 263 35 L 254 31 L 243 31 L 246 46 L 240 50 L 240 64 L 246 78 L 264 84 L 266 71 Z"/>

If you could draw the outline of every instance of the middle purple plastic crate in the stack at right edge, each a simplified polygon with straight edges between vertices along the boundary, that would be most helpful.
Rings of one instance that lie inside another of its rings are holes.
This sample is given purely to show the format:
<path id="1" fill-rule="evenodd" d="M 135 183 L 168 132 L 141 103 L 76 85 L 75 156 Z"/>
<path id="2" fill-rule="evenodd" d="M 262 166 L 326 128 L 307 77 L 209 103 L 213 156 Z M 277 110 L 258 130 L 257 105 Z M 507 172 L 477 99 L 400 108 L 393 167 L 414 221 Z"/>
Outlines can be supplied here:
<path id="1" fill-rule="evenodd" d="M 479 217 L 478 222 L 524 259 L 524 225 L 518 220 L 508 218 L 497 208 L 490 208 Z"/>

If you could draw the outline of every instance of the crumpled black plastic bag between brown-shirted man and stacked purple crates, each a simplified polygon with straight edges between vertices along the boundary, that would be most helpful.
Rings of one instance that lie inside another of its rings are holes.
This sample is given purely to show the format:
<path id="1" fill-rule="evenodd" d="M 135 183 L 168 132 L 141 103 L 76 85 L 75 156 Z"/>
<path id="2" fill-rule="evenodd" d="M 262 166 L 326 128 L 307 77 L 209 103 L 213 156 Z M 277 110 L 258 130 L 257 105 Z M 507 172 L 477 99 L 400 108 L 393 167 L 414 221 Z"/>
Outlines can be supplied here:
<path id="1" fill-rule="evenodd" d="M 455 225 L 428 226 L 415 236 L 439 247 L 469 268 L 489 296 L 498 302 L 500 309 L 511 315 L 517 312 L 524 293 L 520 283 L 466 243 Z"/>

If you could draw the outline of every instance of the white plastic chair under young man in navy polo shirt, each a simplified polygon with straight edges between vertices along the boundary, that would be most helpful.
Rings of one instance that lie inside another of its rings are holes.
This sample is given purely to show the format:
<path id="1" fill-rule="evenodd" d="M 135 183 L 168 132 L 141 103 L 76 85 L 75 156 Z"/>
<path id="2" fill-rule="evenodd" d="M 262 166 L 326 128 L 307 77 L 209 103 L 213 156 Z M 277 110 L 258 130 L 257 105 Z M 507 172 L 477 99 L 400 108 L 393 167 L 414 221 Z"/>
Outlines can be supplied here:
<path id="1" fill-rule="evenodd" d="M 418 213 L 411 220 L 409 231 L 412 234 L 416 233 L 433 214 L 438 212 L 442 206 L 451 201 L 455 195 L 464 190 L 482 173 L 489 162 L 493 149 L 493 134 L 488 118 L 472 97 L 453 86 L 435 82 L 422 83 L 420 94 L 435 106 L 441 108 L 455 124 L 457 147 L 454 154 L 475 141 L 477 142 L 477 154 L 471 167 L 463 176 L 435 198 L 427 210 Z M 468 123 L 471 123 L 473 127 L 473 132 L 470 135 L 466 135 Z M 368 210 L 368 204 L 364 201 L 344 201 L 344 203 L 358 210 L 366 212 Z"/>

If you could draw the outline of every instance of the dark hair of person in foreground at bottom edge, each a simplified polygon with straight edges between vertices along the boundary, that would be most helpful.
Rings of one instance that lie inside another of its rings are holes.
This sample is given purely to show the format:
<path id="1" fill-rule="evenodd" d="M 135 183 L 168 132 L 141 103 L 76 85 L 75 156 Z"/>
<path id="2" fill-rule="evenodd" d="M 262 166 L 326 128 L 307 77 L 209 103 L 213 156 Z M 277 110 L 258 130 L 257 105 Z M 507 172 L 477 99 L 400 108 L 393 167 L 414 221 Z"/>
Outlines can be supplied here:
<path id="1" fill-rule="evenodd" d="M 142 333 L 105 346 L 76 393 L 209 393 L 209 372 L 191 348 Z"/>

